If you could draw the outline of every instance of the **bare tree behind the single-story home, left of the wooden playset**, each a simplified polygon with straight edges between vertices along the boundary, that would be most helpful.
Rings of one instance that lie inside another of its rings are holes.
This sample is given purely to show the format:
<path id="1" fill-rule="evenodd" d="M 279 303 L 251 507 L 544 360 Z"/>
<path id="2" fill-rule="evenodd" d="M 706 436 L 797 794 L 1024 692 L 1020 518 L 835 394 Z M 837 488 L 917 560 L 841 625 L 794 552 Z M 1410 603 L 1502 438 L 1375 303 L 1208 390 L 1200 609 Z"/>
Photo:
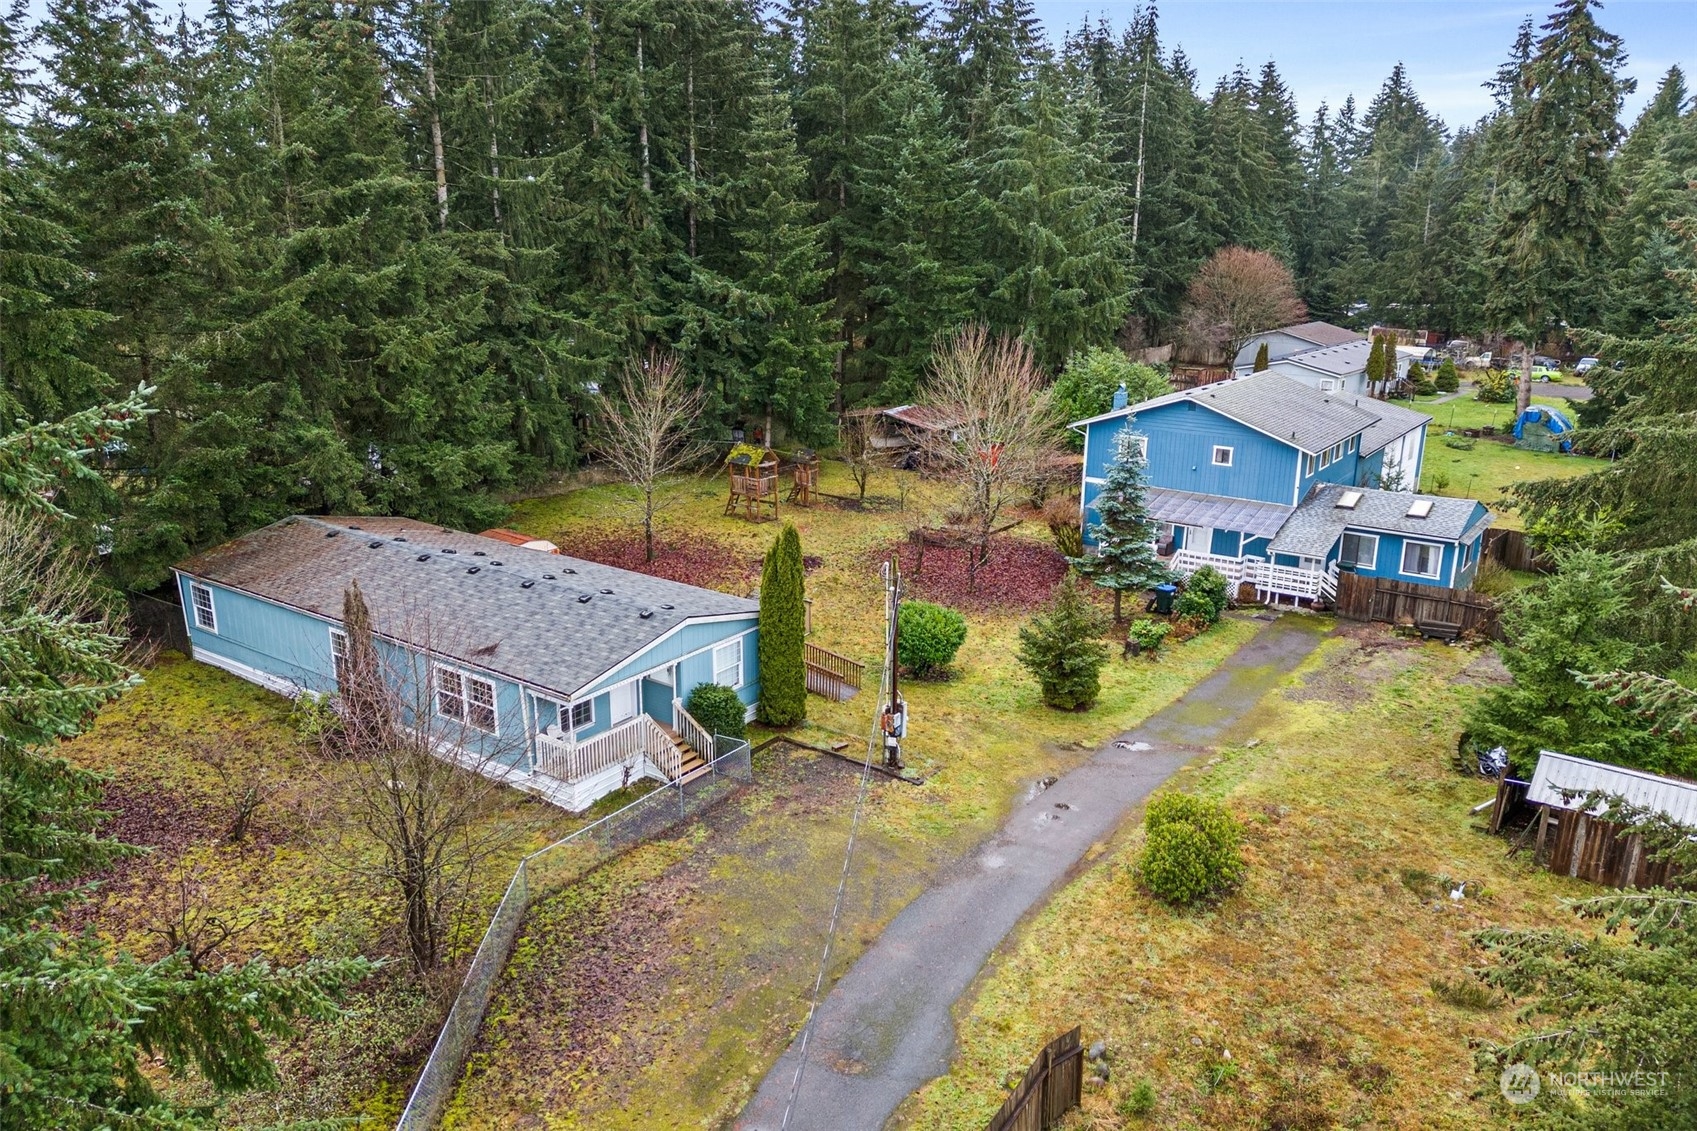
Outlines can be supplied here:
<path id="1" fill-rule="evenodd" d="M 691 387 L 677 358 L 665 350 L 650 350 L 641 360 L 628 362 L 596 402 L 594 448 L 641 494 L 645 560 L 653 560 L 660 481 L 699 464 L 708 453 L 692 431 L 701 408 L 701 389 Z"/>

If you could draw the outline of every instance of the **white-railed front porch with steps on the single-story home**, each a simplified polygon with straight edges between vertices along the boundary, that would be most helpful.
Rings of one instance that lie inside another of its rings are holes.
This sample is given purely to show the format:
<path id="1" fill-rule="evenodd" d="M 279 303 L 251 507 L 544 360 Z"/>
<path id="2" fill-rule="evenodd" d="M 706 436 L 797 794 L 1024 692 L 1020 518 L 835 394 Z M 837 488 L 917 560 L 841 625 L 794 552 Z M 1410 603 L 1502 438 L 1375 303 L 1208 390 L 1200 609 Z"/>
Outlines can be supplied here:
<path id="1" fill-rule="evenodd" d="M 684 710 L 682 700 L 672 700 L 672 718 L 675 725 L 667 725 L 640 712 L 580 742 L 568 734 L 536 734 L 529 769 L 538 785 L 548 785 L 550 800 L 572 812 L 640 778 L 692 781 L 718 757 L 718 739 Z"/>

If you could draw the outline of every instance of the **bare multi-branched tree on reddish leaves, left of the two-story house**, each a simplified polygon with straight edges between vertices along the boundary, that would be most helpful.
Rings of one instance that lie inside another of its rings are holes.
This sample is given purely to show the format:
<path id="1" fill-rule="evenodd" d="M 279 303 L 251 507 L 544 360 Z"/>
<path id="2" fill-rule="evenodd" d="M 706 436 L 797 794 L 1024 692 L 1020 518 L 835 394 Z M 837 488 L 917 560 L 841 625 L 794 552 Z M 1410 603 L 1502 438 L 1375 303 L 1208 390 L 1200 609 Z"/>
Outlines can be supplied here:
<path id="1" fill-rule="evenodd" d="M 1050 387 L 1022 340 L 967 326 L 937 350 L 920 401 L 947 425 L 920 433 L 920 447 L 959 486 L 955 509 L 974 543 L 967 571 L 976 576 L 996 520 L 1057 452 Z"/>

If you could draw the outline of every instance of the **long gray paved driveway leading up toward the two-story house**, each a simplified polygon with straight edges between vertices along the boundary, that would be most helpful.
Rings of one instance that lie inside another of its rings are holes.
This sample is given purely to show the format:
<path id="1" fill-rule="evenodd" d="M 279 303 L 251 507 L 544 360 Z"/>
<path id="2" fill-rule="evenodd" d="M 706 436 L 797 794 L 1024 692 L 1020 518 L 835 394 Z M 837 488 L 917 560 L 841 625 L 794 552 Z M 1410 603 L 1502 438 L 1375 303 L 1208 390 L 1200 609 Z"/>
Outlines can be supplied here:
<path id="1" fill-rule="evenodd" d="M 950 1010 L 991 951 L 1098 841 L 1315 649 L 1322 623 L 1281 616 L 1190 695 L 1101 746 L 1091 761 L 1018 807 L 938 883 L 913 900 L 820 1004 L 794 1131 L 874 1131 L 954 1051 Z M 779 1058 L 736 1128 L 784 1124 L 799 1041 Z"/>

